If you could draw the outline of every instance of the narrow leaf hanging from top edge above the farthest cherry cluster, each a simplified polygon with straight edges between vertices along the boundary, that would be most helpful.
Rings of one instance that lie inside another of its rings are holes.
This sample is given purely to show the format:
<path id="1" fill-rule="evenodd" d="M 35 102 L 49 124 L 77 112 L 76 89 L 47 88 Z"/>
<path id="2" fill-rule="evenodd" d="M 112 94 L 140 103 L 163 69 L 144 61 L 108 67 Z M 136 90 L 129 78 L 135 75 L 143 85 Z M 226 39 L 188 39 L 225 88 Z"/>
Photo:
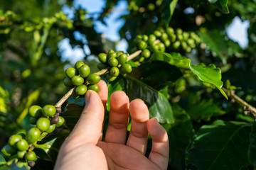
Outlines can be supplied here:
<path id="1" fill-rule="evenodd" d="M 162 17 L 164 18 L 166 26 L 168 26 L 169 22 L 171 21 L 171 17 L 174 14 L 174 10 L 175 10 L 175 6 L 176 6 L 177 2 L 178 2 L 178 0 L 167 0 L 164 4 Z"/>

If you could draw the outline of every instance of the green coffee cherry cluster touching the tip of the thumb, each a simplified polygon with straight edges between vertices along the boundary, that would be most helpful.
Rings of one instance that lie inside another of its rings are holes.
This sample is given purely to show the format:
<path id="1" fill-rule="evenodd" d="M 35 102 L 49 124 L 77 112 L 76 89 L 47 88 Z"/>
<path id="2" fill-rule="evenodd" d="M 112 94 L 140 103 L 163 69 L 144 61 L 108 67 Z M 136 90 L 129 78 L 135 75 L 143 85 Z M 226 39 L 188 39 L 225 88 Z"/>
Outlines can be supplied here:
<path id="1" fill-rule="evenodd" d="M 90 74 L 90 67 L 82 61 L 75 63 L 75 67 L 65 69 L 66 78 L 64 84 L 67 87 L 75 87 L 72 97 L 74 99 L 83 97 L 87 90 L 100 91 L 97 85 L 101 77 L 98 74 Z"/>

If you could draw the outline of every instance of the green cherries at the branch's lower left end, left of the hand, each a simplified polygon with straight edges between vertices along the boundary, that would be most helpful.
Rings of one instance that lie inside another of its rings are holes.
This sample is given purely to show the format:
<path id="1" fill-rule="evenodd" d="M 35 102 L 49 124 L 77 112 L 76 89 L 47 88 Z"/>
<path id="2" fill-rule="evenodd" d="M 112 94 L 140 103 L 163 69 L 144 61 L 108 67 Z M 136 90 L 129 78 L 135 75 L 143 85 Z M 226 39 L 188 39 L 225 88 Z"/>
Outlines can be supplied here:
<path id="1" fill-rule="evenodd" d="M 40 140 L 43 132 L 50 133 L 55 128 L 60 128 L 65 122 L 64 118 L 59 116 L 61 108 L 53 105 L 40 106 L 33 105 L 29 108 L 28 113 L 31 115 L 29 122 L 36 125 L 26 132 L 11 135 L 8 144 L 5 145 L 1 152 L 6 157 L 14 156 L 19 162 L 28 162 L 29 166 L 34 166 L 36 153 L 33 152 L 34 145 Z"/>

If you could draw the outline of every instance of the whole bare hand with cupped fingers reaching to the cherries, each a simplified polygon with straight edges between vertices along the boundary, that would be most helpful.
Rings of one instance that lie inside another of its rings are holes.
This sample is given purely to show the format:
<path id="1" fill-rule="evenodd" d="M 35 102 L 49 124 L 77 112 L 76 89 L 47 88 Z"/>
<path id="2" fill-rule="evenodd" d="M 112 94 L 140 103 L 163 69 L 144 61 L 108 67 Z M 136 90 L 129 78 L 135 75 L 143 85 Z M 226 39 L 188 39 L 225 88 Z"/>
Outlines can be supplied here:
<path id="1" fill-rule="evenodd" d="M 107 85 L 98 83 L 100 91 L 87 91 L 86 106 L 78 123 L 63 143 L 55 164 L 57 169 L 167 169 L 169 140 L 166 130 L 141 99 L 129 103 L 124 91 L 110 97 L 110 119 L 102 142 L 102 123 L 107 102 Z M 127 139 L 129 115 L 132 127 Z M 148 135 L 152 138 L 149 158 L 145 157 Z"/>

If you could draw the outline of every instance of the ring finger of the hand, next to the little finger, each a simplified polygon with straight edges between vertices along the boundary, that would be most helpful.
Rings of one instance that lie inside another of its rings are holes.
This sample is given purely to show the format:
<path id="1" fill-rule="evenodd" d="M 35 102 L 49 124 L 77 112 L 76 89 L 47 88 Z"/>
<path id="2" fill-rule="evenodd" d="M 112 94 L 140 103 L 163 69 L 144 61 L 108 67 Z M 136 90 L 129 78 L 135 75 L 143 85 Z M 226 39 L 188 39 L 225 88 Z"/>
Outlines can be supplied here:
<path id="1" fill-rule="evenodd" d="M 132 117 L 132 127 L 127 146 L 145 154 L 148 139 L 146 121 L 149 120 L 149 110 L 144 101 L 141 99 L 132 101 L 130 103 L 130 115 Z"/>

